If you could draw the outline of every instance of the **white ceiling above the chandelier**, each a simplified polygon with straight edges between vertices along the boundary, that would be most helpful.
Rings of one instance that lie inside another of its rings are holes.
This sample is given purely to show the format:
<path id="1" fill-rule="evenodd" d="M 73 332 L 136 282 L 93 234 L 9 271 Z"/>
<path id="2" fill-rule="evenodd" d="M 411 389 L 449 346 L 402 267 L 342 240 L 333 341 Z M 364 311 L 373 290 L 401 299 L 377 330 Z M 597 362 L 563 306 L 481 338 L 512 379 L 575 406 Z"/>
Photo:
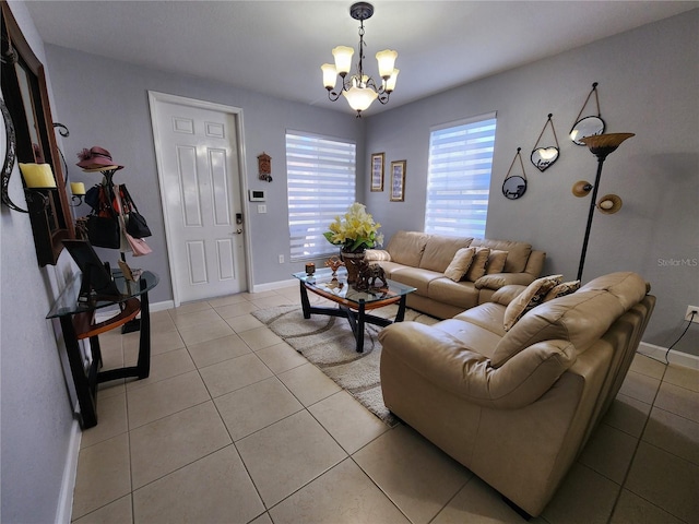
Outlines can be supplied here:
<path id="1" fill-rule="evenodd" d="M 44 41 L 149 68 L 214 79 L 352 114 L 328 100 L 320 66 L 357 48 L 352 0 L 27 1 Z M 365 72 L 399 51 L 398 107 L 474 80 L 696 9 L 699 1 L 375 0 Z M 355 61 L 356 61 L 355 51 Z"/>

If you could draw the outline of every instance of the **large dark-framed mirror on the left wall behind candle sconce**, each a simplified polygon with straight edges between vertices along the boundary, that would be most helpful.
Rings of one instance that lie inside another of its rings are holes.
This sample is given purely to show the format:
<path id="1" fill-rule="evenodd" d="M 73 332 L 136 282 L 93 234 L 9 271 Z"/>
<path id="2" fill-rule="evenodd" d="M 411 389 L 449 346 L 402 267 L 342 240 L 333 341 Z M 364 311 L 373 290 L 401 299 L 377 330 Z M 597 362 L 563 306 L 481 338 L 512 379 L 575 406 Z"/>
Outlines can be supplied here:
<path id="1" fill-rule="evenodd" d="M 1 84 L 7 106 L 7 118 L 3 111 L 3 120 L 10 120 L 10 127 L 14 130 L 12 151 L 19 163 L 48 164 L 56 179 L 56 187 L 50 189 L 28 189 L 25 186 L 24 210 L 16 202 L 12 203 L 8 194 L 12 174 L 12 166 L 9 164 L 13 162 L 10 163 L 5 155 L 1 183 L 2 203 L 11 210 L 28 213 L 39 265 L 56 264 L 63 249 L 62 240 L 74 237 L 74 227 L 51 123 L 44 66 L 24 38 L 8 3 L 0 2 L 0 8 Z M 8 153 L 10 148 L 9 146 Z"/>

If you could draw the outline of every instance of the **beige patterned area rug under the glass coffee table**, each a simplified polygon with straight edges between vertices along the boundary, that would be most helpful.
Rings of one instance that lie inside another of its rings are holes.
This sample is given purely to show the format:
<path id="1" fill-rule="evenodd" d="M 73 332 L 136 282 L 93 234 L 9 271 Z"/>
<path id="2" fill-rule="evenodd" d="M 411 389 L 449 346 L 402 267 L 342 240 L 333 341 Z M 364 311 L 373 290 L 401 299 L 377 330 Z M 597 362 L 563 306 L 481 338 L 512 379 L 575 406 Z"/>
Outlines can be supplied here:
<path id="1" fill-rule="evenodd" d="M 398 306 L 387 306 L 372 310 L 371 314 L 393 319 L 396 312 Z M 262 309 L 252 311 L 252 315 L 386 424 L 398 424 L 398 419 L 383 405 L 381 394 L 381 344 L 378 340 L 381 326 L 365 324 L 364 353 L 357 353 L 356 342 L 346 319 L 321 314 L 311 314 L 310 319 L 304 319 L 300 306 Z M 424 324 L 439 322 L 411 309 L 405 310 L 405 320 Z"/>

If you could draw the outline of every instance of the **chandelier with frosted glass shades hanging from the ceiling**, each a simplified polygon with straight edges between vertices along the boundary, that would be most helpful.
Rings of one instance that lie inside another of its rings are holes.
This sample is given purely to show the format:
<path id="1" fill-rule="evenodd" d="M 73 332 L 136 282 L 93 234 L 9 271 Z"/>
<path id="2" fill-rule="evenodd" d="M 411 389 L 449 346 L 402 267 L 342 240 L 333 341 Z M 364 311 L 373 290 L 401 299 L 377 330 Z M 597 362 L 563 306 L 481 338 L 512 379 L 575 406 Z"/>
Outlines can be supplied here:
<path id="1" fill-rule="evenodd" d="M 374 5 L 368 2 L 357 2 L 350 8 L 350 15 L 360 22 L 359 25 L 359 61 L 357 63 L 356 73 L 348 75 L 352 69 L 352 56 L 354 49 L 346 46 L 337 46 L 332 50 L 335 63 L 323 63 L 321 70 L 323 72 L 323 85 L 328 90 L 328 98 L 335 102 L 340 98 L 340 94 L 344 95 L 350 107 L 357 111 L 357 118 L 362 117 L 362 111 L 368 109 L 377 98 L 381 104 L 387 104 L 389 97 L 395 87 L 395 79 L 399 70 L 393 66 L 398 58 L 398 51 L 386 49 L 376 53 L 379 62 L 379 76 L 381 76 L 380 85 L 375 80 L 364 74 L 364 21 L 370 19 L 374 14 Z M 340 87 L 335 90 L 335 83 L 340 75 Z"/>

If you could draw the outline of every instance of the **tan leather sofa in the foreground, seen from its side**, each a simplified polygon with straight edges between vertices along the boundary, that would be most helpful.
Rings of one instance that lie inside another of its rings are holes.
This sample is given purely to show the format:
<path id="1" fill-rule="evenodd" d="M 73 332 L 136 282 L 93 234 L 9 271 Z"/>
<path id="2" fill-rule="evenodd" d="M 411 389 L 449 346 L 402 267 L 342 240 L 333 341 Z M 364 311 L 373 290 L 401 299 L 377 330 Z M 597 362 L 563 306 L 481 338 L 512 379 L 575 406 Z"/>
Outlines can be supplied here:
<path id="1" fill-rule="evenodd" d="M 503 330 L 523 286 L 379 340 L 387 407 L 538 515 L 616 396 L 655 303 L 635 273 L 595 278 Z"/>

